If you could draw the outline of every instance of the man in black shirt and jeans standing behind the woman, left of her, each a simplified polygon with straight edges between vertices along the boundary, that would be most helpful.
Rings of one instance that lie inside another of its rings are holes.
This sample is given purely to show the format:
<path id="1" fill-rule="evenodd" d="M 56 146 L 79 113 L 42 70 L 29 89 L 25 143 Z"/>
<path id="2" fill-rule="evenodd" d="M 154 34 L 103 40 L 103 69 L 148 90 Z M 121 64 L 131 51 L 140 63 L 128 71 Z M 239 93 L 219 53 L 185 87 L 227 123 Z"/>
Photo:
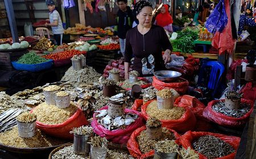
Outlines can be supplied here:
<path id="1" fill-rule="evenodd" d="M 133 22 L 133 12 L 127 6 L 127 0 L 117 0 L 119 10 L 117 12 L 117 35 L 119 37 L 120 50 L 125 56 L 125 36 Z"/>

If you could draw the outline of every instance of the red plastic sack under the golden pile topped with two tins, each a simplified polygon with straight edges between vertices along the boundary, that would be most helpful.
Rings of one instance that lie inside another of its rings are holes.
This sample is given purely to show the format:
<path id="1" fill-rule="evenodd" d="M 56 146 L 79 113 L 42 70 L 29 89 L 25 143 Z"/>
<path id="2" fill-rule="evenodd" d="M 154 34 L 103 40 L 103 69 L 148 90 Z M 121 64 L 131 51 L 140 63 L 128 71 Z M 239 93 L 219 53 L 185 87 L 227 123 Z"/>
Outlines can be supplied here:
<path id="1" fill-rule="evenodd" d="M 33 112 L 31 110 L 30 112 Z M 73 140 L 73 134 L 69 133 L 74 127 L 81 127 L 82 125 L 88 125 L 84 113 L 81 108 L 77 108 L 75 114 L 73 114 L 68 120 L 61 124 L 48 125 L 36 120 L 36 127 L 47 133 L 48 135 L 60 137 L 62 139 Z"/>

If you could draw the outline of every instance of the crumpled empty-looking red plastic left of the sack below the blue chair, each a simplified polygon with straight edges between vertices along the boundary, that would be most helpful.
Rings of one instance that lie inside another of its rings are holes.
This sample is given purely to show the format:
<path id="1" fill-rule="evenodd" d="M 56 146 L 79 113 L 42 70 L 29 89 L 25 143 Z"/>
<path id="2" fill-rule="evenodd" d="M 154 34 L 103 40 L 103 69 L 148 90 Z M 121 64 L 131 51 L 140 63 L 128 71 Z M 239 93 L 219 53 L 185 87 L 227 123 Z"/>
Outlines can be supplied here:
<path id="1" fill-rule="evenodd" d="M 196 99 L 196 97 L 192 97 L 190 95 L 183 95 L 176 99 L 174 105 L 184 108 L 189 107 L 191 108 L 193 114 L 195 114 L 196 118 L 204 119 L 203 111 L 205 106 L 198 99 Z"/>

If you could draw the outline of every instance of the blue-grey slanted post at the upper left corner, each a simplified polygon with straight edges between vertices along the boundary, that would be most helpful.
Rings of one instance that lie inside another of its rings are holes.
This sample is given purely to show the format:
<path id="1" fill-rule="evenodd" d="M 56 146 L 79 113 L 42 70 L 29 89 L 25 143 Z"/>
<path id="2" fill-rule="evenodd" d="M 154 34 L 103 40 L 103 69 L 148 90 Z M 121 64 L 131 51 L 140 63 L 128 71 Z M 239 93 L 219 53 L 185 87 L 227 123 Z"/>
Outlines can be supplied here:
<path id="1" fill-rule="evenodd" d="M 5 8 L 6 8 L 6 12 L 9 20 L 13 42 L 19 43 L 18 30 L 17 30 L 16 20 L 15 20 L 14 10 L 13 10 L 13 2 L 10 0 L 5 0 Z"/>

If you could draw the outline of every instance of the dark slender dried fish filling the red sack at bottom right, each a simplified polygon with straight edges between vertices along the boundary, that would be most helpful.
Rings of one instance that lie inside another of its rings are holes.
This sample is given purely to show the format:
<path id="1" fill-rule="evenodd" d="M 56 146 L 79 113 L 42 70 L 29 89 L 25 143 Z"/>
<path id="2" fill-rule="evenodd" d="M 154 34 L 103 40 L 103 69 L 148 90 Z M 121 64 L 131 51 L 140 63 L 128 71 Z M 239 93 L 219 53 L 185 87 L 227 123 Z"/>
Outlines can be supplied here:
<path id="1" fill-rule="evenodd" d="M 193 149 L 209 159 L 227 156 L 235 152 L 234 148 L 215 136 L 205 135 L 193 141 Z"/>

